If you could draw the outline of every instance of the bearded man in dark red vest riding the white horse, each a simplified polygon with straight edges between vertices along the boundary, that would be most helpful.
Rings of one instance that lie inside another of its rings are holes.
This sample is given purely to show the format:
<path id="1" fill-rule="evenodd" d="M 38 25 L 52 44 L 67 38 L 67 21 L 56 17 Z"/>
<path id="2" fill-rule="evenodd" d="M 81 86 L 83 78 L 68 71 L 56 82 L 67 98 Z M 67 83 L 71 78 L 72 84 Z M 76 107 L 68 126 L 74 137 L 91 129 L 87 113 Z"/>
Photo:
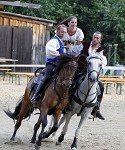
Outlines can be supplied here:
<path id="1" fill-rule="evenodd" d="M 91 42 L 85 42 L 83 41 L 83 50 L 81 51 L 81 54 L 84 54 L 86 56 L 89 56 L 92 53 L 99 53 L 102 57 L 102 63 L 103 65 L 107 65 L 107 58 L 105 56 L 105 52 L 101 46 L 101 40 L 102 40 L 102 34 L 99 31 L 96 31 L 93 34 L 92 41 Z M 85 62 L 86 57 L 85 56 L 80 56 L 78 60 L 78 66 L 80 70 L 86 70 L 86 62 Z M 99 81 L 99 87 L 101 90 L 101 94 L 98 95 L 97 100 L 98 100 L 98 105 L 94 107 L 93 111 L 91 112 L 91 115 L 104 120 L 105 118 L 102 116 L 100 113 L 100 103 L 102 101 L 103 97 L 103 92 L 104 92 L 104 86 L 101 81 Z"/>

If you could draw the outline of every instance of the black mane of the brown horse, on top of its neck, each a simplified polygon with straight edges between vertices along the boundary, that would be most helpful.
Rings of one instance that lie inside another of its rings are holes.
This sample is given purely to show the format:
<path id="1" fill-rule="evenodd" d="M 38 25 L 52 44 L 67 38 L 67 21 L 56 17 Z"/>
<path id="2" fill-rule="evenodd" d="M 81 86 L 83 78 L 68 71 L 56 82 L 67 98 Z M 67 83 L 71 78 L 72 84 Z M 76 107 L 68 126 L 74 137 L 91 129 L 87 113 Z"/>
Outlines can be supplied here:
<path id="1" fill-rule="evenodd" d="M 59 71 L 64 64 L 66 64 L 69 61 L 73 61 L 74 56 L 70 54 L 61 54 L 57 57 L 57 66 L 55 68 L 56 71 Z"/>

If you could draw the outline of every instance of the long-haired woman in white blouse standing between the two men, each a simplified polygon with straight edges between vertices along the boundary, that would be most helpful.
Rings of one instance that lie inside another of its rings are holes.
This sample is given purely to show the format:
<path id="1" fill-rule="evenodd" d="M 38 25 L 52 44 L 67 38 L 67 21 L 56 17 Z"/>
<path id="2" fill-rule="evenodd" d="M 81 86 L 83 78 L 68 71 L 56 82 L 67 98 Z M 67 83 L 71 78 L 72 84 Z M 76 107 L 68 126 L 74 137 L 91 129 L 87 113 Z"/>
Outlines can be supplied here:
<path id="1" fill-rule="evenodd" d="M 84 39 L 83 31 L 77 27 L 77 18 L 70 16 L 61 24 L 67 26 L 67 33 L 63 37 L 64 45 L 68 48 L 68 53 L 78 56 L 83 49 L 82 41 Z"/>

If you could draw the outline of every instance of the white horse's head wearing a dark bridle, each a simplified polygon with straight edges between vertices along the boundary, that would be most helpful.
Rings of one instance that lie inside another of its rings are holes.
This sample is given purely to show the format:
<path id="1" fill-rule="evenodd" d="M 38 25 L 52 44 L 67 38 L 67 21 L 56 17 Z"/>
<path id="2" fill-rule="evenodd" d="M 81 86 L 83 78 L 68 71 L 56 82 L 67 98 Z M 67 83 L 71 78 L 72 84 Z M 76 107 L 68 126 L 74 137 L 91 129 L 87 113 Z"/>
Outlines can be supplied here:
<path id="1" fill-rule="evenodd" d="M 99 54 L 87 57 L 87 73 L 90 82 L 97 82 L 102 69 L 102 58 Z"/>

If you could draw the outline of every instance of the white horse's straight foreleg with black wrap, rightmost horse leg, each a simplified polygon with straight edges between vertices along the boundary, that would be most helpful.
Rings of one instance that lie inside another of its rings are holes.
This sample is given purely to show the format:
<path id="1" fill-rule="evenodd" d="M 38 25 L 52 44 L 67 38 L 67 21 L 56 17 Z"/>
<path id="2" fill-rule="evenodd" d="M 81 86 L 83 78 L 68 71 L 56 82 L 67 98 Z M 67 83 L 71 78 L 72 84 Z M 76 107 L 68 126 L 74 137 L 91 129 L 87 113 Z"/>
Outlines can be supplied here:
<path id="1" fill-rule="evenodd" d="M 72 150 L 74 150 L 74 149 L 77 150 L 78 136 L 79 136 L 79 134 L 81 132 L 81 129 L 82 129 L 82 126 L 83 126 L 84 122 L 87 119 L 88 114 L 89 114 L 89 112 L 87 112 L 87 111 L 86 112 L 83 111 L 82 114 L 81 114 L 81 119 L 80 119 L 78 127 L 77 127 L 77 129 L 75 131 L 75 137 L 74 137 L 73 143 L 71 145 L 71 149 Z"/>

